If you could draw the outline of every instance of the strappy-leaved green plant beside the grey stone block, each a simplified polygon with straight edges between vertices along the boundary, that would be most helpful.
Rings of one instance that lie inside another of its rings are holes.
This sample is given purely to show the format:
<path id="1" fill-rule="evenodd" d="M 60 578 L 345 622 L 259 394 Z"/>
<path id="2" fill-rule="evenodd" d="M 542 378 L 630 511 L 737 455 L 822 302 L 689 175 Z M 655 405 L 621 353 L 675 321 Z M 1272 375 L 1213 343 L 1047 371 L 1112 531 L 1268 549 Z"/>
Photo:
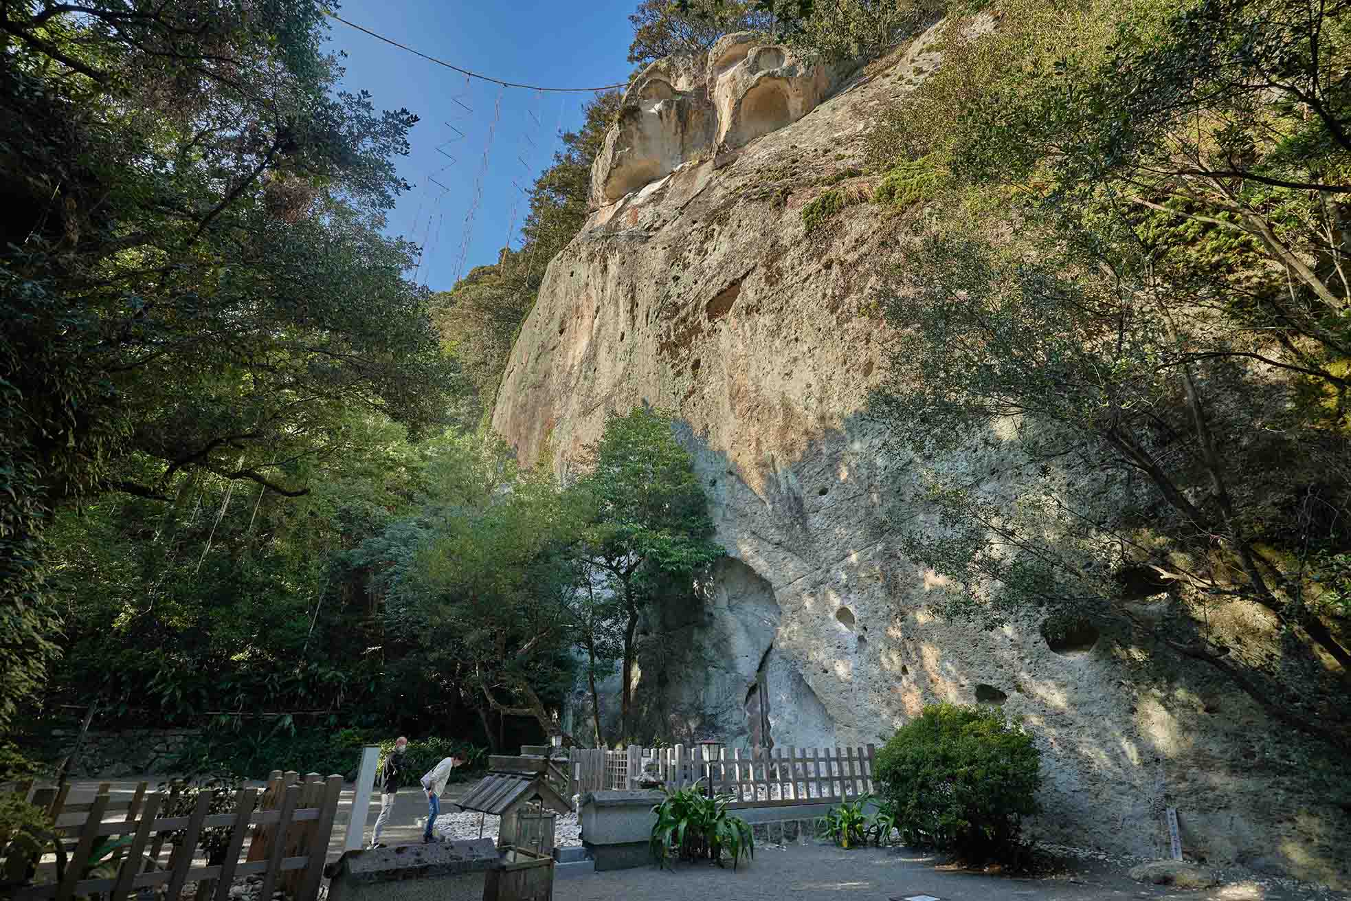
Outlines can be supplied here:
<path id="1" fill-rule="evenodd" d="M 662 793 L 666 797 L 653 808 L 657 823 L 650 842 L 658 866 L 703 859 L 721 866 L 725 855 L 735 870 L 743 856 L 755 856 L 750 824 L 727 812 L 734 796 L 707 797 L 698 782 L 677 790 L 663 786 Z"/>

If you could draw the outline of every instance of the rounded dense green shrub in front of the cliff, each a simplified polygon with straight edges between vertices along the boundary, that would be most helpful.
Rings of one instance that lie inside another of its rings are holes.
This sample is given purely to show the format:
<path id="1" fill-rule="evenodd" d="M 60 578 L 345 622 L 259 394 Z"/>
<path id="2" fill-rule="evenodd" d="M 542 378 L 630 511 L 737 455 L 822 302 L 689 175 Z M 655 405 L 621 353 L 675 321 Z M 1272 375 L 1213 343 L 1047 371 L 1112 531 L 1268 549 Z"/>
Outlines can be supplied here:
<path id="1" fill-rule="evenodd" d="M 938 704 L 901 727 L 877 755 L 877 779 L 905 844 L 969 860 L 1019 847 L 1036 813 L 1040 751 L 1000 711 Z"/>

